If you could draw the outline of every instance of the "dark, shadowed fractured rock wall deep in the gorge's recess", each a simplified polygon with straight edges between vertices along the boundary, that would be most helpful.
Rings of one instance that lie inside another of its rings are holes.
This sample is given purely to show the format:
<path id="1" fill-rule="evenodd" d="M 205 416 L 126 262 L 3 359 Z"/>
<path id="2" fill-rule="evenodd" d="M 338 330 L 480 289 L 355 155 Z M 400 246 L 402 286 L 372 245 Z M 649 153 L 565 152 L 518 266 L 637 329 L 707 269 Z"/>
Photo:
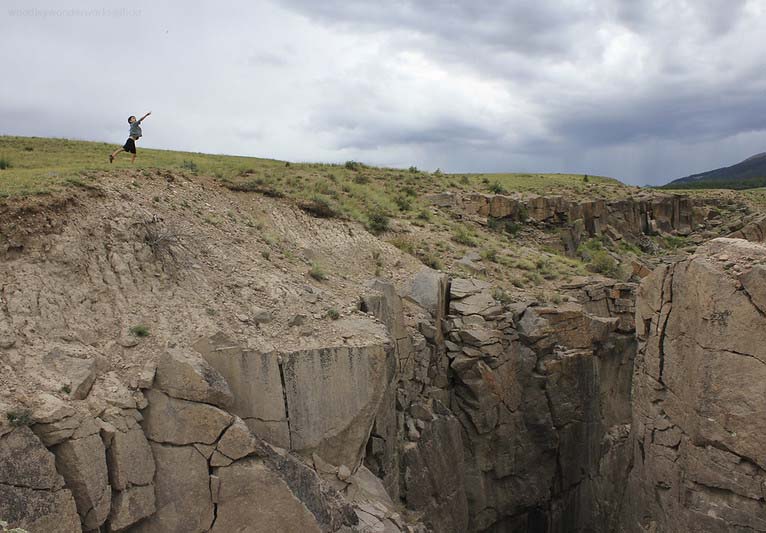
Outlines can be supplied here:
<path id="1" fill-rule="evenodd" d="M 486 282 L 431 279 L 417 297 L 404 291 L 420 311 L 408 311 L 417 328 L 396 394 L 403 502 L 433 531 L 610 530 L 635 351 L 629 308 L 613 300 L 632 287 L 602 287 L 618 298 L 598 316 L 574 303 L 508 306 Z"/>

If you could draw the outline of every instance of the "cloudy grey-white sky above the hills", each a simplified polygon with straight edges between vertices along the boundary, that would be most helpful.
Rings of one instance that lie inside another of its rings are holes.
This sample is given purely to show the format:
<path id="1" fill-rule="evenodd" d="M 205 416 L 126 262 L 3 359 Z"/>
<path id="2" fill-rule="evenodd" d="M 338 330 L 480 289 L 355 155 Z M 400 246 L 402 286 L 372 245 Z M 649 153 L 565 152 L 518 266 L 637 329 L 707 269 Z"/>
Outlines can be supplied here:
<path id="1" fill-rule="evenodd" d="M 165 4 L 3 0 L 0 134 L 634 184 L 766 151 L 764 0 Z"/>

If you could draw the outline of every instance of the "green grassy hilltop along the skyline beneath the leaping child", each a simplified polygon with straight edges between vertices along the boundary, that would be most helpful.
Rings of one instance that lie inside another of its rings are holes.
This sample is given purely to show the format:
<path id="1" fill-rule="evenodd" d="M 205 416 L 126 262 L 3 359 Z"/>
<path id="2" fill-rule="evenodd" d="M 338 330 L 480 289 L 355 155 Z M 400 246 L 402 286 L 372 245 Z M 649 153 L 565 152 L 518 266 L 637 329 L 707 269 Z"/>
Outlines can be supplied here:
<path id="1" fill-rule="evenodd" d="M 597 185 L 620 187 L 599 176 L 572 174 L 446 175 L 410 169 L 385 169 L 348 162 L 344 165 L 286 163 L 272 159 L 139 148 L 136 164 L 123 154 L 110 165 L 116 145 L 38 137 L 0 137 L 0 196 L 46 194 L 87 183 L 100 172 L 125 168 L 161 169 L 209 175 L 233 186 L 274 195 L 335 200 L 347 214 L 361 206 L 394 209 L 397 198 L 445 189 L 486 192 L 583 192 Z M 370 198 L 366 198 L 371 196 Z M 364 198 L 363 198 L 364 197 Z M 357 218 L 357 217 L 354 217 Z"/>

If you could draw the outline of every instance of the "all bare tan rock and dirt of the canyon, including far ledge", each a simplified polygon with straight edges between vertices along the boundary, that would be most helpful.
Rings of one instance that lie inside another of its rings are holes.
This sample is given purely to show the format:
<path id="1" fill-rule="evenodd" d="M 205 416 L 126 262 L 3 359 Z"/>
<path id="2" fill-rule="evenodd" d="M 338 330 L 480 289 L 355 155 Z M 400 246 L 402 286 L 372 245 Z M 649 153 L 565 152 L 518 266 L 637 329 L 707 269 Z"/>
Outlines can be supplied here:
<path id="1" fill-rule="evenodd" d="M 121 219 L 119 198 L 0 263 L 0 520 L 35 533 L 766 531 L 762 245 L 716 239 L 640 286 L 593 278 L 549 306 L 405 256 L 392 279 L 343 271 L 398 252 L 275 204 L 275 219 L 310 228 L 284 225 L 306 258 L 333 258 L 337 284 L 311 285 L 287 254 L 274 266 L 237 228 L 173 251 L 177 268 L 147 244 L 167 226 Z M 668 198 L 523 207 L 587 231 L 684 231 L 713 213 Z M 470 201 L 521 216 L 506 197 Z M 751 222 L 738 236 L 760 235 Z M 125 335 L 143 313 L 152 336 Z"/>

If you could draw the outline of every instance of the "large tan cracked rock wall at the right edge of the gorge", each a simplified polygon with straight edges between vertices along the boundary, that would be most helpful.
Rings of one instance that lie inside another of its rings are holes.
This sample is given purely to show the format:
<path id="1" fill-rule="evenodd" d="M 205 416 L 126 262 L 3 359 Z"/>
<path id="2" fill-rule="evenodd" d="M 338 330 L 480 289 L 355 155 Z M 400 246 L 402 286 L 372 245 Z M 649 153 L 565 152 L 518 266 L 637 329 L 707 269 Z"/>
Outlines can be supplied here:
<path id="1" fill-rule="evenodd" d="M 765 261 L 716 239 L 642 283 L 625 531 L 766 531 Z"/>

